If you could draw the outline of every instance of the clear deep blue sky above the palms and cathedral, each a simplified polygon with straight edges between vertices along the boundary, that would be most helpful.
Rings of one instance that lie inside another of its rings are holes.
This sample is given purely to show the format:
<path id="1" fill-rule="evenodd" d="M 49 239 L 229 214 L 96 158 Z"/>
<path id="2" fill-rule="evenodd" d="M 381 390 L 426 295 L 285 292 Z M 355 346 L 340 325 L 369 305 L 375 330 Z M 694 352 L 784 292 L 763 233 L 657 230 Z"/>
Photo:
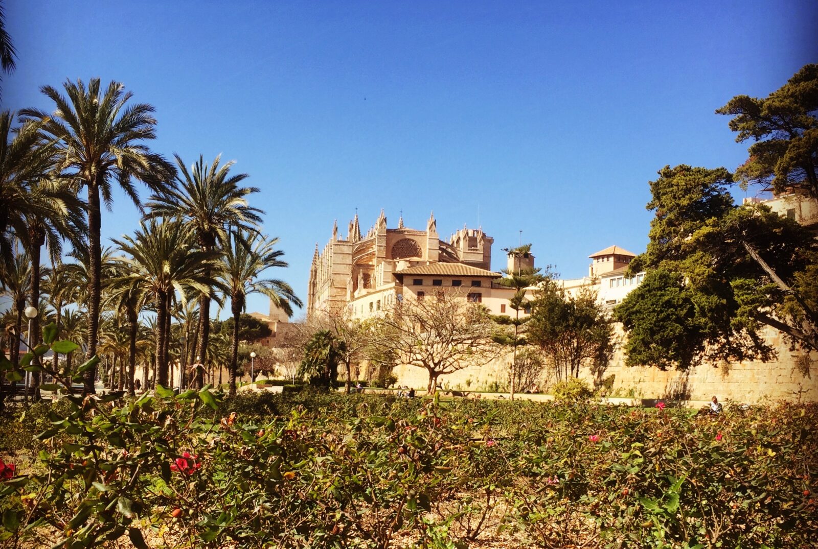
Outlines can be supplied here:
<path id="1" fill-rule="evenodd" d="M 496 270 L 519 230 L 567 278 L 611 244 L 642 252 L 657 170 L 735 169 L 747 145 L 713 111 L 818 62 L 814 0 L 5 3 L 3 109 L 123 82 L 156 107 L 156 151 L 249 173 L 290 261 L 271 274 L 304 301 L 315 244 L 355 208 L 363 230 L 380 208 L 417 229 L 434 210 L 443 237 L 482 225 Z M 138 217 L 116 195 L 103 236 Z"/>

